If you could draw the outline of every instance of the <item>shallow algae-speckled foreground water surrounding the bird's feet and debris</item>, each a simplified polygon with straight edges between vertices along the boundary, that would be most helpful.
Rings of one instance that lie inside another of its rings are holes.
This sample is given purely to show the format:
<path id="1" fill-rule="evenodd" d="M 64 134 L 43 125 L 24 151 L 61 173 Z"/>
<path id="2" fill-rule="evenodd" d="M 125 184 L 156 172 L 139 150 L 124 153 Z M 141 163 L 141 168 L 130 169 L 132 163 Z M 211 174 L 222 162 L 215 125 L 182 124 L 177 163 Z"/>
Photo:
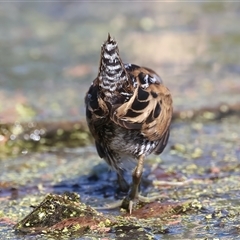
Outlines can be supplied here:
<path id="1" fill-rule="evenodd" d="M 158 192 L 163 196 L 161 201 L 170 204 L 193 201 L 194 205 L 196 201 L 194 211 L 181 214 L 176 223 L 165 223 L 164 234 L 151 232 L 150 225 L 148 231 L 156 239 L 237 239 L 240 220 L 238 121 L 232 117 L 205 124 L 176 122 L 168 149 L 161 158 L 152 156 L 146 161 L 144 179 L 148 181 L 144 181 L 143 194 Z M 47 193 L 73 191 L 91 206 L 113 203 L 124 196 L 116 188 L 116 175 L 99 159 L 94 147 L 29 153 L 1 161 L 0 166 L 0 206 L 4 216 L 0 234 L 11 239 L 16 236 L 9 232 L 9 226 L 26 216 L 32 210 L 30 206 L 39 204 Z M 186 179 L 194 181 L 167 188 L 153 187 L 151 183 Z M 106 210 L 104 214 L 121 213 L 116 209 Z M 95 233 L 91 237 L 114 236 L 112 234 Z"/>

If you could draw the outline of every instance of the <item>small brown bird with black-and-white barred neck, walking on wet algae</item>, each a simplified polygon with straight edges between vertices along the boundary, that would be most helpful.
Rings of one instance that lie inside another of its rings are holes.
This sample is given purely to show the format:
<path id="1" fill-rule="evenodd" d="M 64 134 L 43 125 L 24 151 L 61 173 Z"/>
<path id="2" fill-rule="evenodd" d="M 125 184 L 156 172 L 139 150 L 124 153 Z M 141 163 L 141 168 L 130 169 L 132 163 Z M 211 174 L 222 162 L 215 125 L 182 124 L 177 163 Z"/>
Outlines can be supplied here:
<path id="1" fill-rule="evenodd" d="M 138 194 L 144 159 L 167 145 L 172 119 L 171 93 L 153 70 L 124 64 L 117 42 L 108 34 L 101 48 L 98 76 L 86 97 L 86 119 L 98 155 L 117 172 L 119 186 L 128 191 L 121 207 L 132 212 L 144 199 Z M 132 184 L 123 173 L 135 161 Z"/>

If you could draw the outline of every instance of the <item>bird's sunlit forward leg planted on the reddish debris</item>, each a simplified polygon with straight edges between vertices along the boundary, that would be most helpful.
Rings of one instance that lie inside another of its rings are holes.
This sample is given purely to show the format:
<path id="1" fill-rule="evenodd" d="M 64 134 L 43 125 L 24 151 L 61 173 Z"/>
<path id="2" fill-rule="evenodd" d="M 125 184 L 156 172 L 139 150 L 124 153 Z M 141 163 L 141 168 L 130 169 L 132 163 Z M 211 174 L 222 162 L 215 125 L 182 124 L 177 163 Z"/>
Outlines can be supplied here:
<path id="1" fill-rule="evenodd" d="M 138 199 L 138 189 L 143 172 L 144 155 L 141 155 L 138 159 L 138 164 L 132 173 L 132 185 L 128 196 L 123 199 L 122 208 L 128 209 L 132 212 L 134 200 Z"/>

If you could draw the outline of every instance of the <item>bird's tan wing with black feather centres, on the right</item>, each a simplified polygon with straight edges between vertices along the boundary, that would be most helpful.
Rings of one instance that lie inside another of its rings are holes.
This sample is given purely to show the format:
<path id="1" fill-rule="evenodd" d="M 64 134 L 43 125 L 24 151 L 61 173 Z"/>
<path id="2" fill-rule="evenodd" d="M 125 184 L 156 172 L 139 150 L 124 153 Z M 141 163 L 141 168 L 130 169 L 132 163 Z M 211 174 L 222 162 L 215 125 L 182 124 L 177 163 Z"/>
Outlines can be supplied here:
<path id="1" fill-rule="evenodd" d="M 137 66 L 130 70 L 135 90 L 127 102 L 113 106 L 111 120 L 121 127 L 140 130 L 150 141 L 167 139 L 172 118 L 170 91 L 152 70 Z"/>

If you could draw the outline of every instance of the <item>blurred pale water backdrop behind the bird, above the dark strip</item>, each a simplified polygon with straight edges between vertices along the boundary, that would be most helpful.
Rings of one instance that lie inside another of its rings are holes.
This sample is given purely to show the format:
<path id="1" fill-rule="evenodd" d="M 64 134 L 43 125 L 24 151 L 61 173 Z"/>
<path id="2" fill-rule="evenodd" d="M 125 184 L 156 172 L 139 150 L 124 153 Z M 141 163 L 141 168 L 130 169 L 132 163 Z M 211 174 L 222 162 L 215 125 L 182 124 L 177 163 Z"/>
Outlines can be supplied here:
<path id="1" fill-rule="evenodd" d="M 110 33 L 154 69 L 174 109 L 240 101 L 240 3 L 1 2 L 0 122 L 84 119 Z"/>

